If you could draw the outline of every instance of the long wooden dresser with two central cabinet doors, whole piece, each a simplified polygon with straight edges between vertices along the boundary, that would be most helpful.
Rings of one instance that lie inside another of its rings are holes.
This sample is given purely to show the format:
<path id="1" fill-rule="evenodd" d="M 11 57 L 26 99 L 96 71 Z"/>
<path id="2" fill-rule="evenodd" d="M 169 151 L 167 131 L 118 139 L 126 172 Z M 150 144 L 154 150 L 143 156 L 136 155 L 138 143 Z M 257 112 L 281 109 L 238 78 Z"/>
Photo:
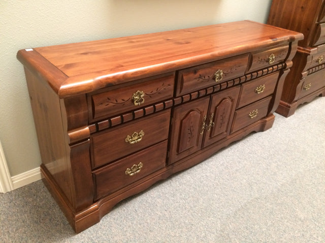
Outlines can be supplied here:
<path id="1" fill-rule="evenodd" d="M 240 21 L 20 50 L 41 172 L 76 232 L 271 128 L 302 38 Z"/>

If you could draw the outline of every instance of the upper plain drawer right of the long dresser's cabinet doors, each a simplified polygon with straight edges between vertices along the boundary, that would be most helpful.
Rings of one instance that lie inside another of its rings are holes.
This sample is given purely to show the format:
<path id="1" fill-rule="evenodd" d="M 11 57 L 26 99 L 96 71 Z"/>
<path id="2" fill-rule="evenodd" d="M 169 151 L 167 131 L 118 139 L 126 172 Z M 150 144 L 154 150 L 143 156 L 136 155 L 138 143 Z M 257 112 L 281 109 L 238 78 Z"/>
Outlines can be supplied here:
<path id="1" fill-rule="evenodd" d="M 255 79 L 242 85 L 238 108 L 273 94 L 279 72 Z"/>

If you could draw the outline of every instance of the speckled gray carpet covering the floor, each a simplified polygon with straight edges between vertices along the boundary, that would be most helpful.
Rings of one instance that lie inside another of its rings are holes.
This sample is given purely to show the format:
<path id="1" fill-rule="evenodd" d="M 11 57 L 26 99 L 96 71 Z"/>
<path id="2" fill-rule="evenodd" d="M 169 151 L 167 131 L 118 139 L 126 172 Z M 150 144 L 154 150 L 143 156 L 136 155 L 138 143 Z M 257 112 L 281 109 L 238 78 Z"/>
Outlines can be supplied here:
<path id="1" fill-rule="evenodd" d="M 0 194 L 0 242 L 325 242 L 325 98 L 75 234 L 41 181 Z"/>

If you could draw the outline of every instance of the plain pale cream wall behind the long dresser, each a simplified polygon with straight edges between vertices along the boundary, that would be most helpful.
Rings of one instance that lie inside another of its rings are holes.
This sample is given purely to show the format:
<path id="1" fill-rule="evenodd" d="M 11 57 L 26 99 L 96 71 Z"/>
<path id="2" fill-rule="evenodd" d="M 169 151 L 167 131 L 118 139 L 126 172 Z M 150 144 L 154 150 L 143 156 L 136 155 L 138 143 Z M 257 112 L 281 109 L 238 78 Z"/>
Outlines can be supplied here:
<path id="1" fill-rule="evenodd" d="M 250 19 L 271 0 L 1 0 L 0 141 L 11 176 L 41 163 L 20 49 Z"/>

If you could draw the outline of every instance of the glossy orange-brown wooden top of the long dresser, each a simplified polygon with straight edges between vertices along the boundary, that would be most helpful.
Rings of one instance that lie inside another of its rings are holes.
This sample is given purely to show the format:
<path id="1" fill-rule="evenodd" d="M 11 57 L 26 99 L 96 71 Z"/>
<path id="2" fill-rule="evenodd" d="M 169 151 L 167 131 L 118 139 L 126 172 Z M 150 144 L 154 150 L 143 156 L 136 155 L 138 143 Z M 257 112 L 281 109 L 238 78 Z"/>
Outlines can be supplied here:
<path id="1" fill-rule="evenodd" d="M 17 58 L 65 97 L 302 38 L 246 20 L 24 49 Z"/>

